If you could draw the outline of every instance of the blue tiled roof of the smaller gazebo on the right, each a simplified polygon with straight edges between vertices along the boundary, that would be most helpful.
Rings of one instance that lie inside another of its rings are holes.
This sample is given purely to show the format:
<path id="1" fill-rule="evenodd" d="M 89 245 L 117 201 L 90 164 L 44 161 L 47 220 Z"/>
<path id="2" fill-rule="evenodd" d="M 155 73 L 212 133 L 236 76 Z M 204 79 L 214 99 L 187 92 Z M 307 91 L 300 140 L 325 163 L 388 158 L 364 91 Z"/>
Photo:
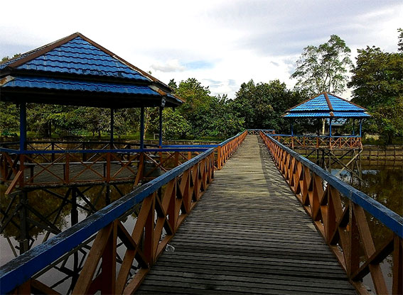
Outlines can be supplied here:
<path id="1" fill-rule="evenodd" d="M 284 118 L 369 118 L 366 108 L 323 92 L 289 108 Z"/>

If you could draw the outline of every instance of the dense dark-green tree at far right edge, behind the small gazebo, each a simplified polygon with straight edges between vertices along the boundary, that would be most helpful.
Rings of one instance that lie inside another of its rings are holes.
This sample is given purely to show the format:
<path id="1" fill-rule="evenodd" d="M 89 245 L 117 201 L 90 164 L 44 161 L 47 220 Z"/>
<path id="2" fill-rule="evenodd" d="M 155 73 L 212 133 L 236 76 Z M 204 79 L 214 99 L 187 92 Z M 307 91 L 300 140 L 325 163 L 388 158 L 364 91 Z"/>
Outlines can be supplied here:
<path id="1" fill-rule="evenodd" d="M 399 33 L 401 45 L 401 29 Z M 403 52 L 383 52 L 367 46 L 358 50 L 356 63 L 348 84 L 354 87 L 352 101 L 372 114 L 365 128 L 378 133 L 385 143 L 392 143 L 395 136 L 403 135 Z"/>

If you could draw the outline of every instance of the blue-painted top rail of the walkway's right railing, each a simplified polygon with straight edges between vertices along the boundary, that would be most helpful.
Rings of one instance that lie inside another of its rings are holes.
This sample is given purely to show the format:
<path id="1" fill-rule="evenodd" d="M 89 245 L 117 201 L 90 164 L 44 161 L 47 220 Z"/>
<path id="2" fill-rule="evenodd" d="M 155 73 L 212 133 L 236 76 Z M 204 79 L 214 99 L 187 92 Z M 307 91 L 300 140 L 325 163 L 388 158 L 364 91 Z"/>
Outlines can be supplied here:
<path id="1" fill-rule="evenodd" d="M 272 138 L 270 135 L 266 135 L 269 140 L 272 140 L 276 145 L 279 145 L 282 150 L 288 152 L 292 157 L 296 158 L 303 165 L 308 167 L 312 172 L 321 177 L 324 181 L 331 184 L 332 187 L 337 189 L 340 194 L 346 196 L 348 199 L 353 201 L 355 204 L 361 206 L 365 211 L 370 213 L 372 216 L 377 218 L 378 221 L 383 223 L 387 228 L 396 233 L 400 238 L 403 238 L 403 217 L 399 216 L 399 214 L 380 204 L 379 202 L 372 199 L 367 194 L 364 194 L 362 191 L 351 187 L 349 184 L 346 184 L 342 180 L 334 177 L 332 174 L 322 169 L 318 165 L 314 164 L 310 160 L 306 159 L 299 155 L 299 153 L 294 152 L 289 147 L 282 145 L 277 140 Z"/>

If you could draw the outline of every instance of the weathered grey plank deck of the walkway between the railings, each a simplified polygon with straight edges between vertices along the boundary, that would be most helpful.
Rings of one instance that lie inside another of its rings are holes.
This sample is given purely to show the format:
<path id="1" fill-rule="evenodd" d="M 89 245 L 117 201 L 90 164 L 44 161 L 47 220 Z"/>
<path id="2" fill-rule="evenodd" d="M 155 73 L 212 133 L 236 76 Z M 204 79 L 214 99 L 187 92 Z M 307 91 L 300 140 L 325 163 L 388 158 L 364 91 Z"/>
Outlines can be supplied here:
<path id="1" fill-rule="evenodd" d="M 136 294 L 355 294 L 270 159 L 248 135 Z"/>

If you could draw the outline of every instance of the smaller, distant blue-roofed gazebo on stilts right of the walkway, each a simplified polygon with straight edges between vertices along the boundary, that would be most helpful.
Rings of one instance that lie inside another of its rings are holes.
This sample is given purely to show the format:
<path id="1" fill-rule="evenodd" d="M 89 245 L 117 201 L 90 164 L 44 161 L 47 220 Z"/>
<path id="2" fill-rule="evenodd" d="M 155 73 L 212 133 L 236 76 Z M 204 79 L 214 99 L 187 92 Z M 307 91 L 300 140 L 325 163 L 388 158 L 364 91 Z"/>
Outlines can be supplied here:
<path id="1" fill-rule="evenodd" d="M 370 118 L 365 108 L 334 94 L 323 92 L 289 108 L 283 118 L 291 119 L 291 135 L 273 135 L 276 140 L 305 154 L 306 157 L 316 155 L 316 163 L 325 169 L 331 170 L 332 163 L 337 162 L 343 167 L 337 172 L 338 174 L 348 169 L 352 175 L 361 179 L 362 120 Z M 323 135 L 294 135 L 294 120 L 301 118 L 322 120 Z M 332 123 L 336 122 L 340 126 L 340 123 L 343 124 L 343 121 L 348 119 L 353 120 L 353 134 L 333 135 Z M 358 135 L 355 135 L 356 120 L 360 125 Z M 328 135 L 324 134 L 326 121 L 329 124 Z M 346 158 L 350 159 L 347 164 L 343 162 Z M 355 172 L 356 168 L 358 173 Z"/>

